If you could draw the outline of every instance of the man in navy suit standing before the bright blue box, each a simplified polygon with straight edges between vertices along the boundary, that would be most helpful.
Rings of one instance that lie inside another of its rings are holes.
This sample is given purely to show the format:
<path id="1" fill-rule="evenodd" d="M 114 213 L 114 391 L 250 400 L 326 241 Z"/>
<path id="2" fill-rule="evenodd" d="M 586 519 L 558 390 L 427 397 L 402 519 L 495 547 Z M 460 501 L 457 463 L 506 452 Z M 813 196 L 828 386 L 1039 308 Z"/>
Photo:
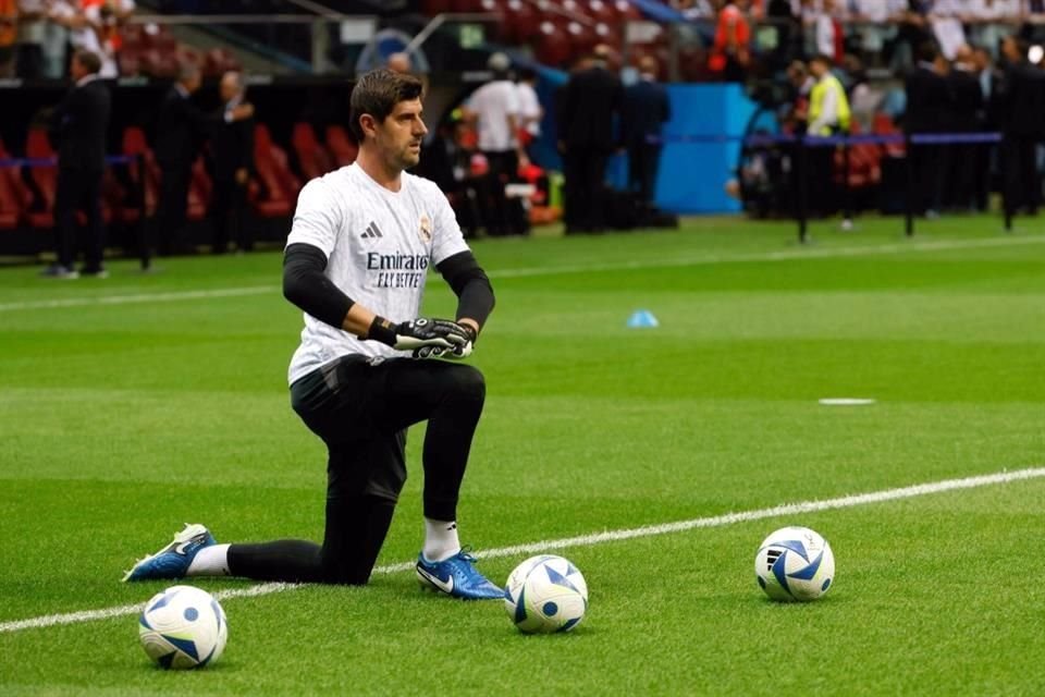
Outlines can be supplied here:
<path id="1" fill-rule="evenodd" d="M 643 210 L 653 208 L 656 170 L 661 159 L 661 126 L 672 118 L 667 90 L 656 82 L 656 60 L 639 61 L 639 82 L 625 90 L 622 140 L 628 150 L 628 187 Z"/>

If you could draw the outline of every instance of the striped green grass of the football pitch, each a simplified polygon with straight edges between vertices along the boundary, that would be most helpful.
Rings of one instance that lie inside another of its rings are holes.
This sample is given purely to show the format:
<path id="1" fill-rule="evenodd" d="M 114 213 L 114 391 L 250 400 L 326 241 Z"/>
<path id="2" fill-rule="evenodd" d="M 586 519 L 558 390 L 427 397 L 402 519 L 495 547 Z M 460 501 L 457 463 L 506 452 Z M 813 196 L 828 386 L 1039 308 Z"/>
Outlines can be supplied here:
<path id="1" fill-rule="evenodd" d="M 499 306 L 475 355 L 489 396 L 465 541 L 1045 464 L 1045 237 L 995 235 L 987 218 L 914 241 L 896 220 L 861 227 L 814 227 L 811 247 L 733 219 L 477 243 Z M 279 255 L 162 266 L 74 283 L 0 272 L 0 622 L 145 601 L 169 584 L 121 572 L 185 521 L 223 541 L 321 534 L 323 451 L 287 404 L 300 318 Z M 11 306 L 199 289 L 254 290 Z M 437 280 L 428 311 L 453 306 Z M 626 329 L 638 308 L 661 327 Z M 418 428 L 380 564 L 420 543 L 420 442 Z M 152 669 L 133 616 L 0 634 L 0 693 L 1041 694 L 1043 500 L 1033 480 L 567 549 L 591 609 L 566 636 L 521 636 L 500 603 L 422 595 L 406 572 L 230 599 L 225 655 L 193 674 Z M 754 583 L 754 548 L 785 524 L 835 549 L 819 603 L 776 606 Z M 519 561 L 480 567 L 503 582 Z"/>

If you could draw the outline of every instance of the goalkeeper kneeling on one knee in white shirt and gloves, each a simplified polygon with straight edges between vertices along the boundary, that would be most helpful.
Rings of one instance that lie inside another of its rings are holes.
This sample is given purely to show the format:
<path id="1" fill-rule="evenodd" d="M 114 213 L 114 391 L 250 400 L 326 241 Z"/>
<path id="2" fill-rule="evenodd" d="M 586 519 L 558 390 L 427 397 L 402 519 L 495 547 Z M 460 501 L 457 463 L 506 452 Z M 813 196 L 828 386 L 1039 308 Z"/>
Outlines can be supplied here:
<path id="1" fill-rule="evenodd" d="M 302 189 L 287 237 L 283 293 L 305 310 L 291 403 L 329 451 L 322 546 L 218 545 L 189 525 L 126 580 L 366 584 L 406 479 L 406 429 L 427 420 L 418 579 L 455 598 L 504 597 L 462 549 L 456 522 L 485 394 L 482 374 L 457 362 L 471 354 L 493 291 L 446 197 L 404 171 L 418 163 L 427 133 L 420 97 L 411 75 L 380 69 L 359 78 L 351 98 L 358 159 Z M 454 321 L 417 317 L 431 266 L 458 296 Z"/>

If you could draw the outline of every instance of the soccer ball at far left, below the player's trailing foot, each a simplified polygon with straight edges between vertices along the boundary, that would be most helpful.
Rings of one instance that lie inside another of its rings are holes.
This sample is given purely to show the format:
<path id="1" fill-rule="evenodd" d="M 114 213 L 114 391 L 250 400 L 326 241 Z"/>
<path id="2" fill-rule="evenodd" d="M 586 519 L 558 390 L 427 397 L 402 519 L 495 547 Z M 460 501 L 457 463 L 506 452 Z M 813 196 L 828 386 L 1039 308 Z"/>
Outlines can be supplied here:
<path id="1" fill-rule="evenodd" d="M 145 604 L 138 617 L 142 648 L 161 668 L 202 668 L 218 660 L 229 638 L 225 612 L 194 586 L 171 586 Z"/>

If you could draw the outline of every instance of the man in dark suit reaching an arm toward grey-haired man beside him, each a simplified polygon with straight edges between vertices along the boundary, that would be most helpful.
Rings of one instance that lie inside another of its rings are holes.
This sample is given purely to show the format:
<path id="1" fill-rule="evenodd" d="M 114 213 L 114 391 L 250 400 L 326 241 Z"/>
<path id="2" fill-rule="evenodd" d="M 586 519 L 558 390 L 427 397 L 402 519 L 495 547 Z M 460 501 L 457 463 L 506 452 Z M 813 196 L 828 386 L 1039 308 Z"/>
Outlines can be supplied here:
<path id="1" fill-rule="evenodd" d="M 156 133 L 156 160 L 163 171 L 159 200 L 160 254 L 170 254 L 179 246 L 185 211 L 188 206 L 188 186 L 192 181 L 193 162 L 200 146 L 210 135 L 219 119 L 210 117 L 193 102 L 193 94 L 201 83 L 199 68 L 185 64 L 179 72 L 177 82 L 163 97 Z M 232 110 L 231 120 L 238 121 L 254 115 L 254 108 L 239 105 Z M 143 258 L 148 267 L 148 259 Z"/>

